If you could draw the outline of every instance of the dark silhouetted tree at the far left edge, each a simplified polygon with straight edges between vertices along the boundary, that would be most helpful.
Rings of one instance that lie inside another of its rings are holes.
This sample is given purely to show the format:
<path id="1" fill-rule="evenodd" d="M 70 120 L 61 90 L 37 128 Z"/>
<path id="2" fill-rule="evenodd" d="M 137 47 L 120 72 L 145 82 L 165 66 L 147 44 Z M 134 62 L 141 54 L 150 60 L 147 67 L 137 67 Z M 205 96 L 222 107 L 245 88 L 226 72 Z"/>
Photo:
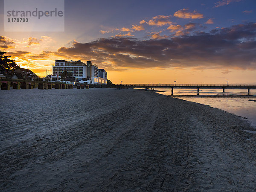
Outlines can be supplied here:
<path id="1" fill-rule="evenodd" d="M 15 63 L 15 60 L 9 59 L 11 56 L 5 54 L 6 52 L 0 51 L 0 73 L 13 72 L 15 69 L 19 69 L 20 66 Z"/>

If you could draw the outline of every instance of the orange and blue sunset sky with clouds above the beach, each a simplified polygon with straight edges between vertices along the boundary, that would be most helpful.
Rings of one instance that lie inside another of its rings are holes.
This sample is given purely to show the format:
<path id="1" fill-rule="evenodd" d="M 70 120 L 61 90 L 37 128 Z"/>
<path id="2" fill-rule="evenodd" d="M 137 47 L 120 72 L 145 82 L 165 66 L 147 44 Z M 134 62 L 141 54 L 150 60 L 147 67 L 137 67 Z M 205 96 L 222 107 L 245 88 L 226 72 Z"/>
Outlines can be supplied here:
<path id="1" fill-rule="evenodd" d="M 64 32 L 5 32 L 0 50 L 41 77 L 88 60 L 113 83 L 256 84 L 255 0 L 65 0 Z"/>

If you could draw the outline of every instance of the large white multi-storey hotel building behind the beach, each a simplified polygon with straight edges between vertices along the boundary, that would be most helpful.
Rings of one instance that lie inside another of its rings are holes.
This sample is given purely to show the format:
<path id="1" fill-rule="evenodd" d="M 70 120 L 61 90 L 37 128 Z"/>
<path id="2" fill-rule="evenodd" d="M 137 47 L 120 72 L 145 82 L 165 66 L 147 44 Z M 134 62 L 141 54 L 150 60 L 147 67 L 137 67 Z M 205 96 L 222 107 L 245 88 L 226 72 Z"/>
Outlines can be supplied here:
<path id="1" fill-rule="evenodd" d="M 52 81 L 61 79 L 61 74 L 64 71 L 71 73 L 72 77 L 76 77 L 80 83 L 107 84 L 107 72 L 104 69 L 99 69 L 96 64 L 92 64 L 92 61 L 86 61 L 85 64 L 80 60 L 55 60 L 55 65 L 52 65 Z"/>

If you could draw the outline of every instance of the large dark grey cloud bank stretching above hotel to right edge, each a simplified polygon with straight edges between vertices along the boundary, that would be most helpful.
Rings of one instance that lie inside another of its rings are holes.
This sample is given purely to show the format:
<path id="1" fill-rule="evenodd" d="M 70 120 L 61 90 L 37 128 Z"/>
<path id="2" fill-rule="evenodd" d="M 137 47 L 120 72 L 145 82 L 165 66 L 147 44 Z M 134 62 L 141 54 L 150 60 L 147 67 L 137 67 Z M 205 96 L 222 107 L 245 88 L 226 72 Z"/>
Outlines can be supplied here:
<path id="1" fill-rule="evenodd" d="M 106 69 L 150 67 L 240 68 L 256 70 L 256 23 L 169 38 L 101 38 L 61 47 L 59 57 L 81 58 Z M 108 63 L 108 65 L 106 65 Z"/>

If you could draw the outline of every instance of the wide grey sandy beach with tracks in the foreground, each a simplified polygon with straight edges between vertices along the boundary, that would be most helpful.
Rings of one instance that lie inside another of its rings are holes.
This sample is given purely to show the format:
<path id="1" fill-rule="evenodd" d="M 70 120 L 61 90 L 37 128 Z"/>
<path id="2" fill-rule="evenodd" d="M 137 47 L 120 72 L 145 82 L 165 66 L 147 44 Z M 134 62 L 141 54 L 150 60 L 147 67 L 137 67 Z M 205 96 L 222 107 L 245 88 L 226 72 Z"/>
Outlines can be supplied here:
<path id="1" fill-rule="evenodd" d="M 217 108 L 134 89 L 0 100 L 0 191 L 256 190 L 255 129 Z"/>

